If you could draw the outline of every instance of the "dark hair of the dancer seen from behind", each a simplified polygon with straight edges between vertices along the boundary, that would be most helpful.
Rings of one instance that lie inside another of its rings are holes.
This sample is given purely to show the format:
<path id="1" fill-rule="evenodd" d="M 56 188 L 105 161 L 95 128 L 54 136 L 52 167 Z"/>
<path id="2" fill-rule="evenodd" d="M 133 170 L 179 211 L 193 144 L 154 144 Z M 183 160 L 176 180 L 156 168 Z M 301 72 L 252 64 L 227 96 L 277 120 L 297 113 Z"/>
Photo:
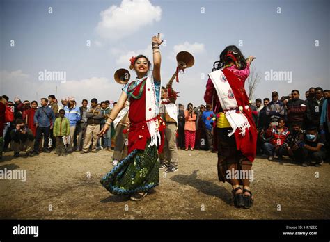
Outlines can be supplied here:
<path id="1" fill-rule="evenodd" d="M 227 54 L 232 54 L 236 58 L 236 62 L 231 56 L 227 56 Z M 237 65 L 237 68 L 239 70 L 242 70 L 246 67 L 246 60 L 242 54 L 242 52 L 235 46 L 235 45 L 229 45 L 223 51 L 221 52 L 219 56 L 220 60 L 213 63 L 212 71 L 219 70 L 225 65 L 228 65 L 229 63 L 234 62 Z"/>

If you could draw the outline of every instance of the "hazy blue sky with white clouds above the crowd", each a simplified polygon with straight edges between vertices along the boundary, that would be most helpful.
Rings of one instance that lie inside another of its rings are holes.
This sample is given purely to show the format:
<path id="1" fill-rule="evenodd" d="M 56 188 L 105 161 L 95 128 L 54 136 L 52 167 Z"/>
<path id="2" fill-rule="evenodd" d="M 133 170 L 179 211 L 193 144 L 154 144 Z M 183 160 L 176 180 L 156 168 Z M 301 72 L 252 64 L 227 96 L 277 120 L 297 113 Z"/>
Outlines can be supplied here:
<path id="1" fill-rule="evenodd" d="M 166 40 L 161 48 L 164 85 L 175 71 L 178 51 L 194 54 L 195 65 L 173 86 L 183 104 L 203 103 L 207 78 L 202 77 L 227 45 L 237 45 L 246 57 L 256 56 L 253 66 L 261 79 L 254 98 L 269 97 L 273 90 L 281 96 L 298 89 L 304 97 L 302 92 L 310 86 L 330 89 L 326 0 L 5 0 L 0 4 L 0 93 L 10 99 L 40 99 L 54 94 L 57 86 L 58 98 L 116 100 L 121 86 L 113 81 L 113 73 L 128 69 L 132 54 L 151 58 L 150 40 L 158 32 Z M 44 70 L 65 72 L 66 82 L 38 80 Z M 292 72 L 292 83 L 266 81 L 265 72 L 270 70 Z"/>

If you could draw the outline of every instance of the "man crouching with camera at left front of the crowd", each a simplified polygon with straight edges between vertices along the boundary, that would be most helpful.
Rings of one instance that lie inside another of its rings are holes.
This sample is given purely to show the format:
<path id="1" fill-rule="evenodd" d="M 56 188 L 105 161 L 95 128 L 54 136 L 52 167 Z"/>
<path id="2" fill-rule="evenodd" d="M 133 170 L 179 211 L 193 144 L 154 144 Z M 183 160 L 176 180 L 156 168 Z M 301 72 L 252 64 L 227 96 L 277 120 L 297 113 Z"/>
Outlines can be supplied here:
<path id="1" fill-rule="evenodd" d="M 25 126 L 22 119 L 16 120 L 16 127 L 10 132 L 10 136 L 10 145 L 15 157 L 19 157 L 19 152 L 25 152 L 25 157 L 33 156 L 33 132 Z"/>

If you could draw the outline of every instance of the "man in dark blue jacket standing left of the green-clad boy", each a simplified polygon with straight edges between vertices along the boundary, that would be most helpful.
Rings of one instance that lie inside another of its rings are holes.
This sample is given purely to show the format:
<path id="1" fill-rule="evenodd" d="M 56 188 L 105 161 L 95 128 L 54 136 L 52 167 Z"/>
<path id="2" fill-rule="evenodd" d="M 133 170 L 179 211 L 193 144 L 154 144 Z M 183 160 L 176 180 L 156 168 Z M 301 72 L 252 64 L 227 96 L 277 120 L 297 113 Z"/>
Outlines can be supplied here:
<path id="1" fill-rule="evenodd" d="M 34 123 L 36 124 L 36 142 L 34 143 L 34 154 L 39 154 L 39 144 L 41 134 L 44 134 L 44 147 L 43 152 L 49 153 L 48 144 L 49 144 L 49 132 L 53 129 L 53 124 L 55 122 L 55 115 L 52 111 L 52 108 L 47 106 L 48 99 L 41 99 L 41 107 L 37 109 L 34 114 Z"/>

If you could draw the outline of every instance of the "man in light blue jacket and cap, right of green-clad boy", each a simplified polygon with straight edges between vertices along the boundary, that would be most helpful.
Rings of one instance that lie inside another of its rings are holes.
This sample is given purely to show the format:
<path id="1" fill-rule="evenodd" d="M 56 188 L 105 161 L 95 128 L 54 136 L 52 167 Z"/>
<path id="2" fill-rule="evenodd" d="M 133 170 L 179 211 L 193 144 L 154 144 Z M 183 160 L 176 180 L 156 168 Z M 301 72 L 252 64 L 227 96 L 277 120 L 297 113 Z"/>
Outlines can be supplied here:
<path id="1" fill-rule="evenodd" d="M 68 105 L 64 107 L 65 118 L 70 121 L 70 144 L 68 145 L 68 152 L 72 152 L 72 144 L 74 138 L 74 131 L 76 130 L 77 122 L 80 121 L 80 109 L 76 105 L 74 97 L 68 97 Z"/>

